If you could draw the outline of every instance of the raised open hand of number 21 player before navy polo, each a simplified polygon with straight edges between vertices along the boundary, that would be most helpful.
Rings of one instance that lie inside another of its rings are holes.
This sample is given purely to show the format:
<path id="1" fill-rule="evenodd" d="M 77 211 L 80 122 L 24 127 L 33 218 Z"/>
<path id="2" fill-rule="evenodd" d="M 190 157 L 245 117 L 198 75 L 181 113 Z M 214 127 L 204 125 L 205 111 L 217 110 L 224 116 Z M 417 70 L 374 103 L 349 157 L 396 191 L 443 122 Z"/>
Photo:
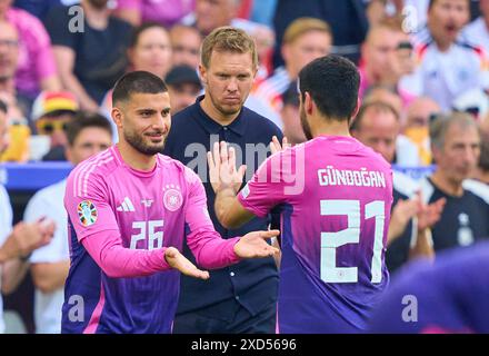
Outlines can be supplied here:
<path id="1" fill-rule="evenodd" d="M 236 152 L 231 147 L 222 142 L 214 142 L 212 152 L 207 152 L 207 162 L 209 165 L 209 178 L 214 192 L 231 188 L 234 194 L 238 192 L 247 167 L 242 165 L 236 168 Z"/>

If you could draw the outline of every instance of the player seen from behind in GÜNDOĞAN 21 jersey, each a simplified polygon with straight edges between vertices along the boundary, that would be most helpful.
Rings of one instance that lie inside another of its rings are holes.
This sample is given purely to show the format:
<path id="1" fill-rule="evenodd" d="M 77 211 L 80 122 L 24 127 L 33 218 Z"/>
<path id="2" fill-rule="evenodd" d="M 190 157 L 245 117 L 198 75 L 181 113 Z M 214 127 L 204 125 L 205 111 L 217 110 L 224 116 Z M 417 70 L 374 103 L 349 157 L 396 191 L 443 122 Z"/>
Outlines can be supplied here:
<path id="1" fill-rule="evenodd" d="M 223 226 L 281 210 L 280 333 L 363 332 L 389 281 L 392 172 L 380 155 L 350 137 L 359 82 L 345 58 L 307 65 L 299 98 L 309 141 L 272 155 L 239 194 L 242 171 L 227 144 L 208 155 Z"/>

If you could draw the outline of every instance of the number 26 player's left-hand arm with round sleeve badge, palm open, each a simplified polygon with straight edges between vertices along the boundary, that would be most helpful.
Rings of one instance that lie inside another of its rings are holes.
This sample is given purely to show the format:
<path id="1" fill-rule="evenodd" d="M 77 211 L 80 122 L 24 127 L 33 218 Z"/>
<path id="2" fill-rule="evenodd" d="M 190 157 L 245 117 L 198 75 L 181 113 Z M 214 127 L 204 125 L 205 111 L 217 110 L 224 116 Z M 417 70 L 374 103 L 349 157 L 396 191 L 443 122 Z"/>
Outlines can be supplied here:
<path id="1" fill-rule="evenodd" d="M 64 195 L 69 230 L 74 230 L 80 244 L 106 275 L 141 277 L 176 268 L 189 276 L 208 278 L 207 273 L 197 269 L 174 248 L 146 250 L 123 246 L 108 196 L 103 177 L 93 175 L 91 179 L 83 179 L 77 169 L 70 174 Z"/>

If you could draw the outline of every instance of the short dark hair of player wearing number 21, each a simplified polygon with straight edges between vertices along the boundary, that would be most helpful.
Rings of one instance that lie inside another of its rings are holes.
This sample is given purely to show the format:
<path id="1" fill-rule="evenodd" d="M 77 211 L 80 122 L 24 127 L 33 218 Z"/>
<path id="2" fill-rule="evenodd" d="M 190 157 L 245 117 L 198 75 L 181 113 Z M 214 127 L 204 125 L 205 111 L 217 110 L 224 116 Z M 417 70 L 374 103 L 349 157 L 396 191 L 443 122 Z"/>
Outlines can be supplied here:
<path id="1" fill-rule="evenodd" d="M 359 86 L 357 67 L 337 55 L 315 59 L 299 72 L 302 101 L 309 92 L 319 111 L 335 120 L 350 120 L 357 108 Z"/>

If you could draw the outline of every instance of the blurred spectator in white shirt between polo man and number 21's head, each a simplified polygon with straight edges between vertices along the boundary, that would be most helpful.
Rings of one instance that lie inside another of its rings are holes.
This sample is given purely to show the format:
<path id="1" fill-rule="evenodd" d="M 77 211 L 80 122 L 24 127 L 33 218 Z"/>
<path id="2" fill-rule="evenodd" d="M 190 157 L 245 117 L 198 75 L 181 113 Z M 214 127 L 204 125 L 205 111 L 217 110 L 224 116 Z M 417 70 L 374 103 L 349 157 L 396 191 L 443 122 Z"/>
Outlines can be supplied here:
<path id="1" fill-rule="evenodd" d="M 331 30 L 328 23 L 312 18 L 295 20 L 287 28 L 283 37 L 285 67 L 277 68 L 270 78 L 257 81 L 252 95 L 280 112 L 283 92 L 307 63 L 329 53 L 331 41 Z"/>

